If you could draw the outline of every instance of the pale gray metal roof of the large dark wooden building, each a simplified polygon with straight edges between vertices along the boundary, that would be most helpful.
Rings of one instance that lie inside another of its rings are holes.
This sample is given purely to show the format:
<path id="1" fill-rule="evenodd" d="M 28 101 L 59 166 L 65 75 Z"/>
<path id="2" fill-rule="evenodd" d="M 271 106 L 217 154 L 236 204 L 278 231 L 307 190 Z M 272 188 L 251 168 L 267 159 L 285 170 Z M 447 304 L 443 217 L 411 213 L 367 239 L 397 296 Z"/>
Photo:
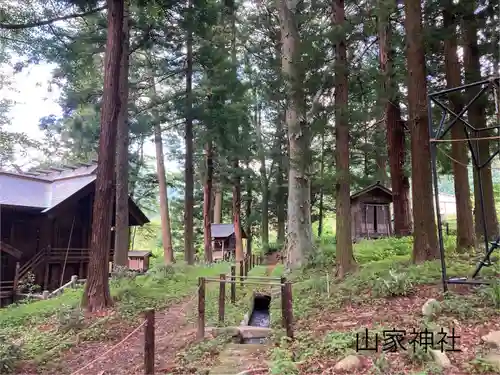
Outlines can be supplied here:
<path id="1" fill-rule="evenodd" d="M 36 176 L 0 171 L 0 205 L 48 211 L 96 179 L 97 165 Z"/>

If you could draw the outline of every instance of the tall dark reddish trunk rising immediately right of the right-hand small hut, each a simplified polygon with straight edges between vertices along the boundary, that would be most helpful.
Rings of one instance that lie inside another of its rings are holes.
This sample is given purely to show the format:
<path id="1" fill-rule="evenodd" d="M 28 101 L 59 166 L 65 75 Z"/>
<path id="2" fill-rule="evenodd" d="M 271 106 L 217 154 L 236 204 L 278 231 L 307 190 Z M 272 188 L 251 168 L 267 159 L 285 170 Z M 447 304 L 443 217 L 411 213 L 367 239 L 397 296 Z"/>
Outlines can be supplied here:
<path id="1" fill-rule="evenodd" d="M 387 154 L 391 171 L 391 188 L 394 208 L 394 234 L 408 236 L 411 233 L 410 182 L 404 173 L 406 158 L 405 123 L 401 119 L 399 90 L 394 77 L 394 49 L 392 48 L 392 25 L 390 14 L 396 2 L 379 4 L 379 53 L 380 70 L 383 75 L 383 103 L 387 129 Z"/>

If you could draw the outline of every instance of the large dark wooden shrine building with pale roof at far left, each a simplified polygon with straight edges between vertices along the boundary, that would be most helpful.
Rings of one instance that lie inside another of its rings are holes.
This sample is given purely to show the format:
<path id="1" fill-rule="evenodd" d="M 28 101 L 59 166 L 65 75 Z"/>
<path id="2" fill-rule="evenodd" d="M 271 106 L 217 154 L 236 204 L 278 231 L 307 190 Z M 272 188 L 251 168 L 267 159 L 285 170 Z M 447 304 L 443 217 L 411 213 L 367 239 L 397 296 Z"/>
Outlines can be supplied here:
<path id="1" fill-rule="evenodd" d="M 10 299 L 15 284 L 29 272 L 42 290 L 56 289 L 72 275 L 87 277 L 96 170 L 92 162 L 0 171 L 0 299 Z M 131 198 L 129 215 L 130 226 L 149 222 Z M 111 261 L 113 226 L 109 230 Z"/>

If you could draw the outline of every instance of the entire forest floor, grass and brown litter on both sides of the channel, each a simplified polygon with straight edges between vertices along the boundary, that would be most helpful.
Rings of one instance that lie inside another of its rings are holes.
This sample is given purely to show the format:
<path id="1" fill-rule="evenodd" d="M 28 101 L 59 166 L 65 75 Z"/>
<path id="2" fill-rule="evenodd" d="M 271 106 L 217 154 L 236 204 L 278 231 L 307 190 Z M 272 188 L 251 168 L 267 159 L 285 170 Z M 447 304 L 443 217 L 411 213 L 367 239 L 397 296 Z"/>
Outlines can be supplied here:
<path id="1" fill-rule="evenodd" d="M 454 242 L 454 237 L 446 238 L 448 276 L 470 275 L 476 257 L 455 254 Z M 287 276 L 293 281 L 294 340 L 284 337 L 280 299 L 273 298 L 270 345 L 248 358 L 248 367 L 265 370 L 252 375 L 498 374 L 500 367 L 495 369 L 487 360 L 492 349 L 483 342 L 483 336 L 500 331 L 500 284 L 455 286 L 444 295 L 439 262 L 412 265 L 411 248 L 409 238 L 357 243 L 358 270 L 336 280 L 335 247 L 325 241 L 307 267 Z M 142 327 L 108 351 L 141 323 L 140 312 L 151 306 L 157 311 L 156 373 L 206 375 L 232 337 L 207 335 L 201 342 L 195 340 L 194 288 L 199 276 L 216 276 L 227 270 L 228 265 L 221 264 L 187 272 L 168 270 L 167 276 L 125 277 L 113 285 L 117 303 L 105 317 L 75 315 L 79 311 L 75 309 L 81 295 L 78 291 L 63 295 L 64 301 L 54 299 L 5 309 L 0 316 L 0 339 L 12 337 L 21 348 L 25 366 L 17 369 L 19 374 L 142 375 Z M 280 265 L 257 266 L 251 274 L 280 276 L 282 272 Z M 482 276 L 498 279 L 500 269 L 485 268 Z M 256 291 L 268 290 L 265 286 L 238 285 L 236 304 L 226 300 L 224 325 L 240 324 Z M 217 284 L 207 288 L 207 327 L 219 325 L 217 295 Z M 433 299 L 436 301 L 431 302 Z M 430 306 L 431 312 L 424 314 L 424 306 L 426 311 Z M 431 348 L 439 349 L 436 344 L 443 338 L 441 329 L 448 333 L 445 349 L 451 348 L 450 335 L 455 336 L 454 348 L 459 349 L 444 351 L 449 361 L 442 362 L 444 367 L 439 364 L 442 356 L 436 354 L 440 350 L 433 352 L 437 359 L 430 352 Z M 425 330 L 432 336 L 421 334 Z M 398 334 L 395 332 L 404 337 L 400 343 L 390 340 Z M 417 345 L 411 342 L 415 338 L 420 341 Z M 426 338 L 427 344 L 423 342 Z M 390 343 L 396 345 L 395 352 L 388 350 Z M 6 351 L 3 345 L 0 340 L 0 362 Z M 82 369 L 91 361 L 95 363 Z M 82 371 L 75 372 L 79 369 Z"/>

